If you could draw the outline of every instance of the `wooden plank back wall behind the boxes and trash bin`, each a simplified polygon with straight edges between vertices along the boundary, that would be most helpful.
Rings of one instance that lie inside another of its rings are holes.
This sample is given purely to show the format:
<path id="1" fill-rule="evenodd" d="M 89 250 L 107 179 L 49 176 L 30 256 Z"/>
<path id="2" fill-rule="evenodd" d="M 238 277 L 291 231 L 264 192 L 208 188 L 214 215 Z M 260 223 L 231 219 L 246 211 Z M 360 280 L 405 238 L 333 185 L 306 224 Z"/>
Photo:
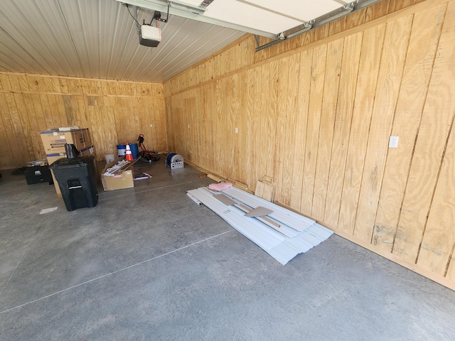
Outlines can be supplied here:
<path id="1" fill-rule="evenodd" d="M 139 134 L 166 151 L 165 111 L 161 84 L 0 73 L 0 169 L 45 158 L 40 131 L 59 126 L 89 128 L 97 160 Z"/>

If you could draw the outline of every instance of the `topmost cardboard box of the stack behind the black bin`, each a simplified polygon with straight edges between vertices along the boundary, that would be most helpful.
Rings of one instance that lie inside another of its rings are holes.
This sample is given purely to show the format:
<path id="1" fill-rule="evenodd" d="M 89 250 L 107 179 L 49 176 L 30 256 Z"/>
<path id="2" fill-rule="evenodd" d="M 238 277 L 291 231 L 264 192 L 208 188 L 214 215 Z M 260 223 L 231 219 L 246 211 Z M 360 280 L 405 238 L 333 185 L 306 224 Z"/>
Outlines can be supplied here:
<path id="1" fill-rule="evenodd" d="M 70 131 L 41 131 L 41 140 L 46 154 L 65 153 L 65 144 L 74 144 L 76 149 L 92 146 L 88 128 Z"/>

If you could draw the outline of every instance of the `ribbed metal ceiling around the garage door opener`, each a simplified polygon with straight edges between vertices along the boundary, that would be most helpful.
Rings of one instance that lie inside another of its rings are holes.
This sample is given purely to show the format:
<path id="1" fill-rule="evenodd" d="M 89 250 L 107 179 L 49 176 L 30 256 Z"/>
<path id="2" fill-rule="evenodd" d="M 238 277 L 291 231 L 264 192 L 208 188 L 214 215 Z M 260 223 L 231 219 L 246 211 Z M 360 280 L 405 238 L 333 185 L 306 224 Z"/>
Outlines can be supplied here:
<path id="1" fill-rule="evenodd" d="M 137 82 L 164 82 L 245 34 L 170 16 L 148 48 L 113 0 L 2 0 L 0 19 L 0 71 Z"/>

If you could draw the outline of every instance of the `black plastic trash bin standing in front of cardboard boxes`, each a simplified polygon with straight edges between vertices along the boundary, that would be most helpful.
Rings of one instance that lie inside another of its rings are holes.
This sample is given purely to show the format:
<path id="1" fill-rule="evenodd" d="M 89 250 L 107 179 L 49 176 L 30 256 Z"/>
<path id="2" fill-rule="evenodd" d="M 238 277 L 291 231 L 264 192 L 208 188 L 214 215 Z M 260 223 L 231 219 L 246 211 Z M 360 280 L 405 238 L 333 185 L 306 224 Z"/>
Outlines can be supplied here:
<path id="1" fill-rule="evenodd" d="M 95 207 L 98 203 L 95 158 L 59 158 L 49 166 L 62 192 L 68 211 Z"/>

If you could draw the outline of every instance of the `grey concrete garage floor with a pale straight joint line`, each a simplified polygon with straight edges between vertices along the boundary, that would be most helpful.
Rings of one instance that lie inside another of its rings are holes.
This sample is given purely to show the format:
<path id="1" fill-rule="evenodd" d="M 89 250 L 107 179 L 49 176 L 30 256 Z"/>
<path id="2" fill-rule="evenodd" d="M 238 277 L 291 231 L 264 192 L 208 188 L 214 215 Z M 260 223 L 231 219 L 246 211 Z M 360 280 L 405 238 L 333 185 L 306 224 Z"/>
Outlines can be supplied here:
<path id="1" fill-rule="evenodd" d="M 0 340 L 454 340 L 454 291 L 336 235 L 282 266 L 140 163 L 73 212 L 1 171 Z"/>

